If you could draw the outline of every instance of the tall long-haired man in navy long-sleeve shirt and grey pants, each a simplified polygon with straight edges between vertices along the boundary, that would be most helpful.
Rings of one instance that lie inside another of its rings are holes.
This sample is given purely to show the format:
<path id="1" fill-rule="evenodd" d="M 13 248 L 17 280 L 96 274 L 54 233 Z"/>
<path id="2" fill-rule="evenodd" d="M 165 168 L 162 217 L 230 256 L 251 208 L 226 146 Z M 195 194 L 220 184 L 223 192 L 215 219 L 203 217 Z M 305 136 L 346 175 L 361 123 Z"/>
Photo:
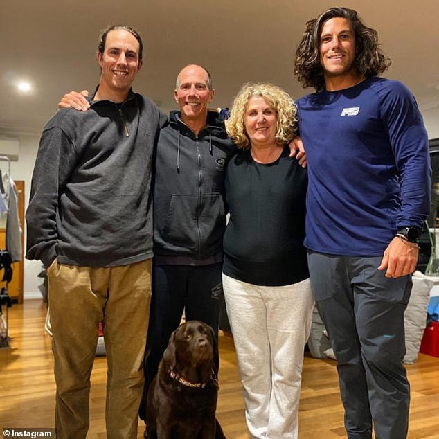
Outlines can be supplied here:
<path id="1" fill-rule="evenodd" d="M 314 60 L 312 62 L 311 60 Z M 337 356 L 350 439 L 406 438 L 410 387 L 404 310 L 429 213 L 427 133 L 403 84 L 357 12 L 330 8 L 307 23 L 296 75 L 308 161 L 311 285 Z"/>

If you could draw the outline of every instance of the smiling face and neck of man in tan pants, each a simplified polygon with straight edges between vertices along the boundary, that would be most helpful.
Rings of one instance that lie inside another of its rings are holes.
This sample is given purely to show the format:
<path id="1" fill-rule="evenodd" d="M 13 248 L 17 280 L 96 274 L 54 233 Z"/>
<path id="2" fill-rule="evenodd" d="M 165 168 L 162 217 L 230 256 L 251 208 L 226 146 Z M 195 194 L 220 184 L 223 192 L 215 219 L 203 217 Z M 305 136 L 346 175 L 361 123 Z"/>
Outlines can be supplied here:
<path id="1" fill-rule="evenodd" d="M 111 30 L 105 39 L 103 53 L 98 52 L 102 69 L 99 82 L 99 98 L 124 100 L 140 71 L 139 44 L 131 33 L 123 29 Z"/>

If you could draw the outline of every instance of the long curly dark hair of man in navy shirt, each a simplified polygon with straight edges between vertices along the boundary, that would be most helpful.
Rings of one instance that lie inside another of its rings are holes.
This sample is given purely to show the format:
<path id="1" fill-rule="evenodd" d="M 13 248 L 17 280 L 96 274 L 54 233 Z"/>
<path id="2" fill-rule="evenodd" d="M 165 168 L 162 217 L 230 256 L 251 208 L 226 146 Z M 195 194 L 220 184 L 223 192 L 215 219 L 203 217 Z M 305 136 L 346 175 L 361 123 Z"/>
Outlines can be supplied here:
<path id="1" fill-rule="evenodd" d="M 320 35 L 323 24 L 332 18 L 341 17 L 350 21 L 355 35 L 355 68 L 364 76 L 381 75 L 391 65 L 390 58 L 379 49 L 378 33 L 364 26 L 357 11 L 348 8 L 330 8 L 316 19 L 307 21 L 305 33 L 296 49 L 294 75 L 303 88 L 325 89 L 323 69 L 320 64 Z"/>

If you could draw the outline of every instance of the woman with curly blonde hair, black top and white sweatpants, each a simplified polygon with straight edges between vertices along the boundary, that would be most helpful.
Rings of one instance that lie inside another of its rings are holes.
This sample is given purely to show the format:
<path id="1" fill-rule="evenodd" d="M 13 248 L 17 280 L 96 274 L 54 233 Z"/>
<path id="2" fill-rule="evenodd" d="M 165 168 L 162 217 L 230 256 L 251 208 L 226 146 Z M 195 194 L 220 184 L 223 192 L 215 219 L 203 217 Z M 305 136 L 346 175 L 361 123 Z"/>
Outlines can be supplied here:
<path id="1" fill-rule="evenodd" d="M 296 105 L 245 84 L 226 121 L 238 153 L 226 172 L 223 287 L 252 438 L 297 438 L 313 299 L 303 247 L 307 172 L 289 158 Z"/>

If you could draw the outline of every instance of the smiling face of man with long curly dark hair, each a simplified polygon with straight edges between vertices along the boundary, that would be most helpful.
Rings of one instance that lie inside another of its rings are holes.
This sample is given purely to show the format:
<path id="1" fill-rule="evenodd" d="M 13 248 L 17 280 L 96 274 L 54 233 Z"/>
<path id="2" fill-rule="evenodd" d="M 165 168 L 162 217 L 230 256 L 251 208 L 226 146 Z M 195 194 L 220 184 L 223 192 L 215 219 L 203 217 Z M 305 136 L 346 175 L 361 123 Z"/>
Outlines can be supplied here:
<path id="1" fill-rule="evenodd" d="M 341 17 L 325 21 L 320 35 L 320 63 L 327 89 L 331 82 L 352 80 L 352 84 L 357 83 L 354 62 L 355 35 L 350 21 Z"/>

